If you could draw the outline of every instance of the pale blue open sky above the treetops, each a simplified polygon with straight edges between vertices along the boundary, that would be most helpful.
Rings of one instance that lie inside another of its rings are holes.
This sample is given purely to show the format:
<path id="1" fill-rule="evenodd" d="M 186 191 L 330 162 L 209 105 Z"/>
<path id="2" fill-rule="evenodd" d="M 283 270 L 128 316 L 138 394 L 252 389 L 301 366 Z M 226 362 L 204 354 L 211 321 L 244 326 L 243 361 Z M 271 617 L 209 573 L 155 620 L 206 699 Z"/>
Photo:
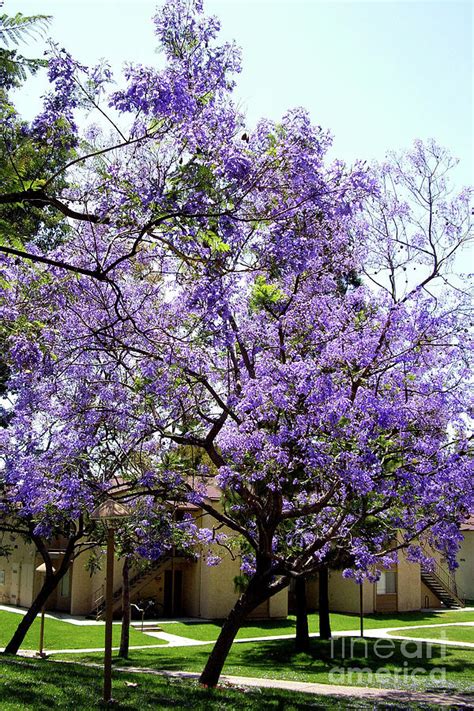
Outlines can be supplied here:
<path id="1" fill-rule="evenodd" d="M 416 138 L 460 159 L 473 183 L 473 5 L 444 0 L 204 0 L 242 47 L 236 97 L 251 127 L 305 106 L 334 134 L 333 155 L 381 160 Z M 48 33 L 85 64 L 156 64 L 151 0 L 6 0 L 8 14 L 53 16 Z M 35 55 L 36 50 L 36 55 Z M 38 56 L 37 42 L 29 54 Z M 25 52 L 26 54 L 26 52 Z M 33 115 L 41 80 L 19 97 Z"/>

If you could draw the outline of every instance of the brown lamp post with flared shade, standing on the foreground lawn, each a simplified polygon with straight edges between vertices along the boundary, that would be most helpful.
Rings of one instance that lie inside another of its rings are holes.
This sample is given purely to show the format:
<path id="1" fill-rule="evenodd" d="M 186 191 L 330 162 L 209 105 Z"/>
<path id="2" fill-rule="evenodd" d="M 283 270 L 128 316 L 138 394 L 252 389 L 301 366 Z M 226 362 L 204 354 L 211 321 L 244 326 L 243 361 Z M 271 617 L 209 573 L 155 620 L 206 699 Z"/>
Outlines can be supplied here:
<path id="1" fill-rule="evenodd" d="M 112 703 L 112 617 L 114 593 L 115 522 L 129 515 L 128 509 L 113 499 L 107 499 L 91 514 L 103 521 L 107 528 L 107 568 L 105 578 L 105 643 L 104 643 L 104 696 L 105 704 Z"/>

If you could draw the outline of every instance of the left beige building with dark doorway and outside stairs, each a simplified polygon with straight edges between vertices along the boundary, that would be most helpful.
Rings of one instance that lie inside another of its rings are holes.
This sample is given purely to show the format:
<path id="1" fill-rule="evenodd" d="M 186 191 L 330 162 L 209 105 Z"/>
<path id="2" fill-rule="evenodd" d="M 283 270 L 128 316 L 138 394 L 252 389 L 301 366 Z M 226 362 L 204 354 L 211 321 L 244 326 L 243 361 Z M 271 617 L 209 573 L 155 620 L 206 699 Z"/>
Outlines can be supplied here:
<path id="1" fill-rule="evenodd" d="M 0 558 L 0 603 L 29 607 L 39 591 L 43 573 L 36 569 L 42 560 L 33 545 L 19 538 L 11 541 L 13 552 Z M 60 559 L 60 552 L 57 552 Z M 86 568 L 87 553 L 78 556 L 69 572 L 50 596 L 47 608 L 72 615 L 97 615 L 104 602 L 105 572 L 92 575 Z M 53 563 L 55 554 L 53 553 Z M 104 556 L 105 558 L 105 556 Z M 114 606 L 121 606 L 122 563 L 114 571 Z M 132 602 L 154 600 L 155 609 L 165 617 L 223 618 L 238 598 L 234 578 L 239 575 L 239 561 L 225 557 L 218 566 L 209 567 L 203 558 L 168 556 L 161 561 L 130 573 Z M 258 608 L 255 617 L 286 617 L 287 593 L 275 595 Z"/>

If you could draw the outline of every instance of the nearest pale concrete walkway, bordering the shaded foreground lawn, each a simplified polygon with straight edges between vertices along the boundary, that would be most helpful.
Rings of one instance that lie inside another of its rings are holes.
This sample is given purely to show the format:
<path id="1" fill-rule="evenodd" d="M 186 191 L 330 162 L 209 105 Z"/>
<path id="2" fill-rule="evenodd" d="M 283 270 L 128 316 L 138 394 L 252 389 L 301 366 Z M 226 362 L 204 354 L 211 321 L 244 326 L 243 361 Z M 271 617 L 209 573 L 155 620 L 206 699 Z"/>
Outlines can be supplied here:
<path id="1" fill-rule="evenodd" d="M 76 662 L 71 662 L 76 663 Z M 102 669 L 101 664 L 80 662 L 83 666 L 90 666 Z M 199 679 L 199 674 L 194 672 L 179 671 L 157 671 L 142 667 L 114 667 L 114 672 L 132 674 L 153 674 L 174 679 Z M 288 681 L 286 679 L 262 679 L 247 676 L 222 675 L 219 680 L 219 687 L 257 687 L 261 689 L 286 689 L 288 691 L 298 691 L 305 694 L 318 694 L 321 696 L 340 696 L 349 699 L 381 701 L 383 703 L 425 703 L 430 705 L 456 706 L 457 708 L 473 709 L 474 696 L 445 693 L 442 691 L 411 691 L 409 689 L 380 689 L 369 686 L 342 686 L 338 684 L 315 684 L 304 681 Z"/>

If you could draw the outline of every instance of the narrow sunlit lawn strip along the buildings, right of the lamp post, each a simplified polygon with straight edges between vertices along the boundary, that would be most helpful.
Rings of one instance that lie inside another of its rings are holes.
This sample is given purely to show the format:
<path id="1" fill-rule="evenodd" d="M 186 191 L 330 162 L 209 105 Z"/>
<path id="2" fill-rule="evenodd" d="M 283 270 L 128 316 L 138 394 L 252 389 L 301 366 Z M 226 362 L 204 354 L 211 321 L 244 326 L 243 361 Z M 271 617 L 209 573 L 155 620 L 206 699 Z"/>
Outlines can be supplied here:
<path id="1" fill-rule="evenodd" d="M 366 615 L 364 626 L 366 629 L 379 629 L 381 627 L 402 627 L 405 625 L 429 625 L 438 622 L 474 622 L 473 612 L 400 612 L 397 615 Z M 159 624 L 159 623 L 158 623 Z M 166 623 L 162 629 L 170 634 L 191 637 L 203 641 L 213 641 L 217 639 L 222 620 L 211 622 L 199 622 L 198 620 L 186 620 L 185 622 Z M 283 634 L 295 633 L 295 617 L 290 615 L 286 620 L 249 620 L 239 630 L 237 639 L 246 637 L 270 637 Z M 359 629 L 359 616 L 343 613 L 331 613 L 331 626 L 333 632 L 341 630 Z M 319 632 L 319 622 L 317 614 L 309 615 L 310 632 Z"/>

